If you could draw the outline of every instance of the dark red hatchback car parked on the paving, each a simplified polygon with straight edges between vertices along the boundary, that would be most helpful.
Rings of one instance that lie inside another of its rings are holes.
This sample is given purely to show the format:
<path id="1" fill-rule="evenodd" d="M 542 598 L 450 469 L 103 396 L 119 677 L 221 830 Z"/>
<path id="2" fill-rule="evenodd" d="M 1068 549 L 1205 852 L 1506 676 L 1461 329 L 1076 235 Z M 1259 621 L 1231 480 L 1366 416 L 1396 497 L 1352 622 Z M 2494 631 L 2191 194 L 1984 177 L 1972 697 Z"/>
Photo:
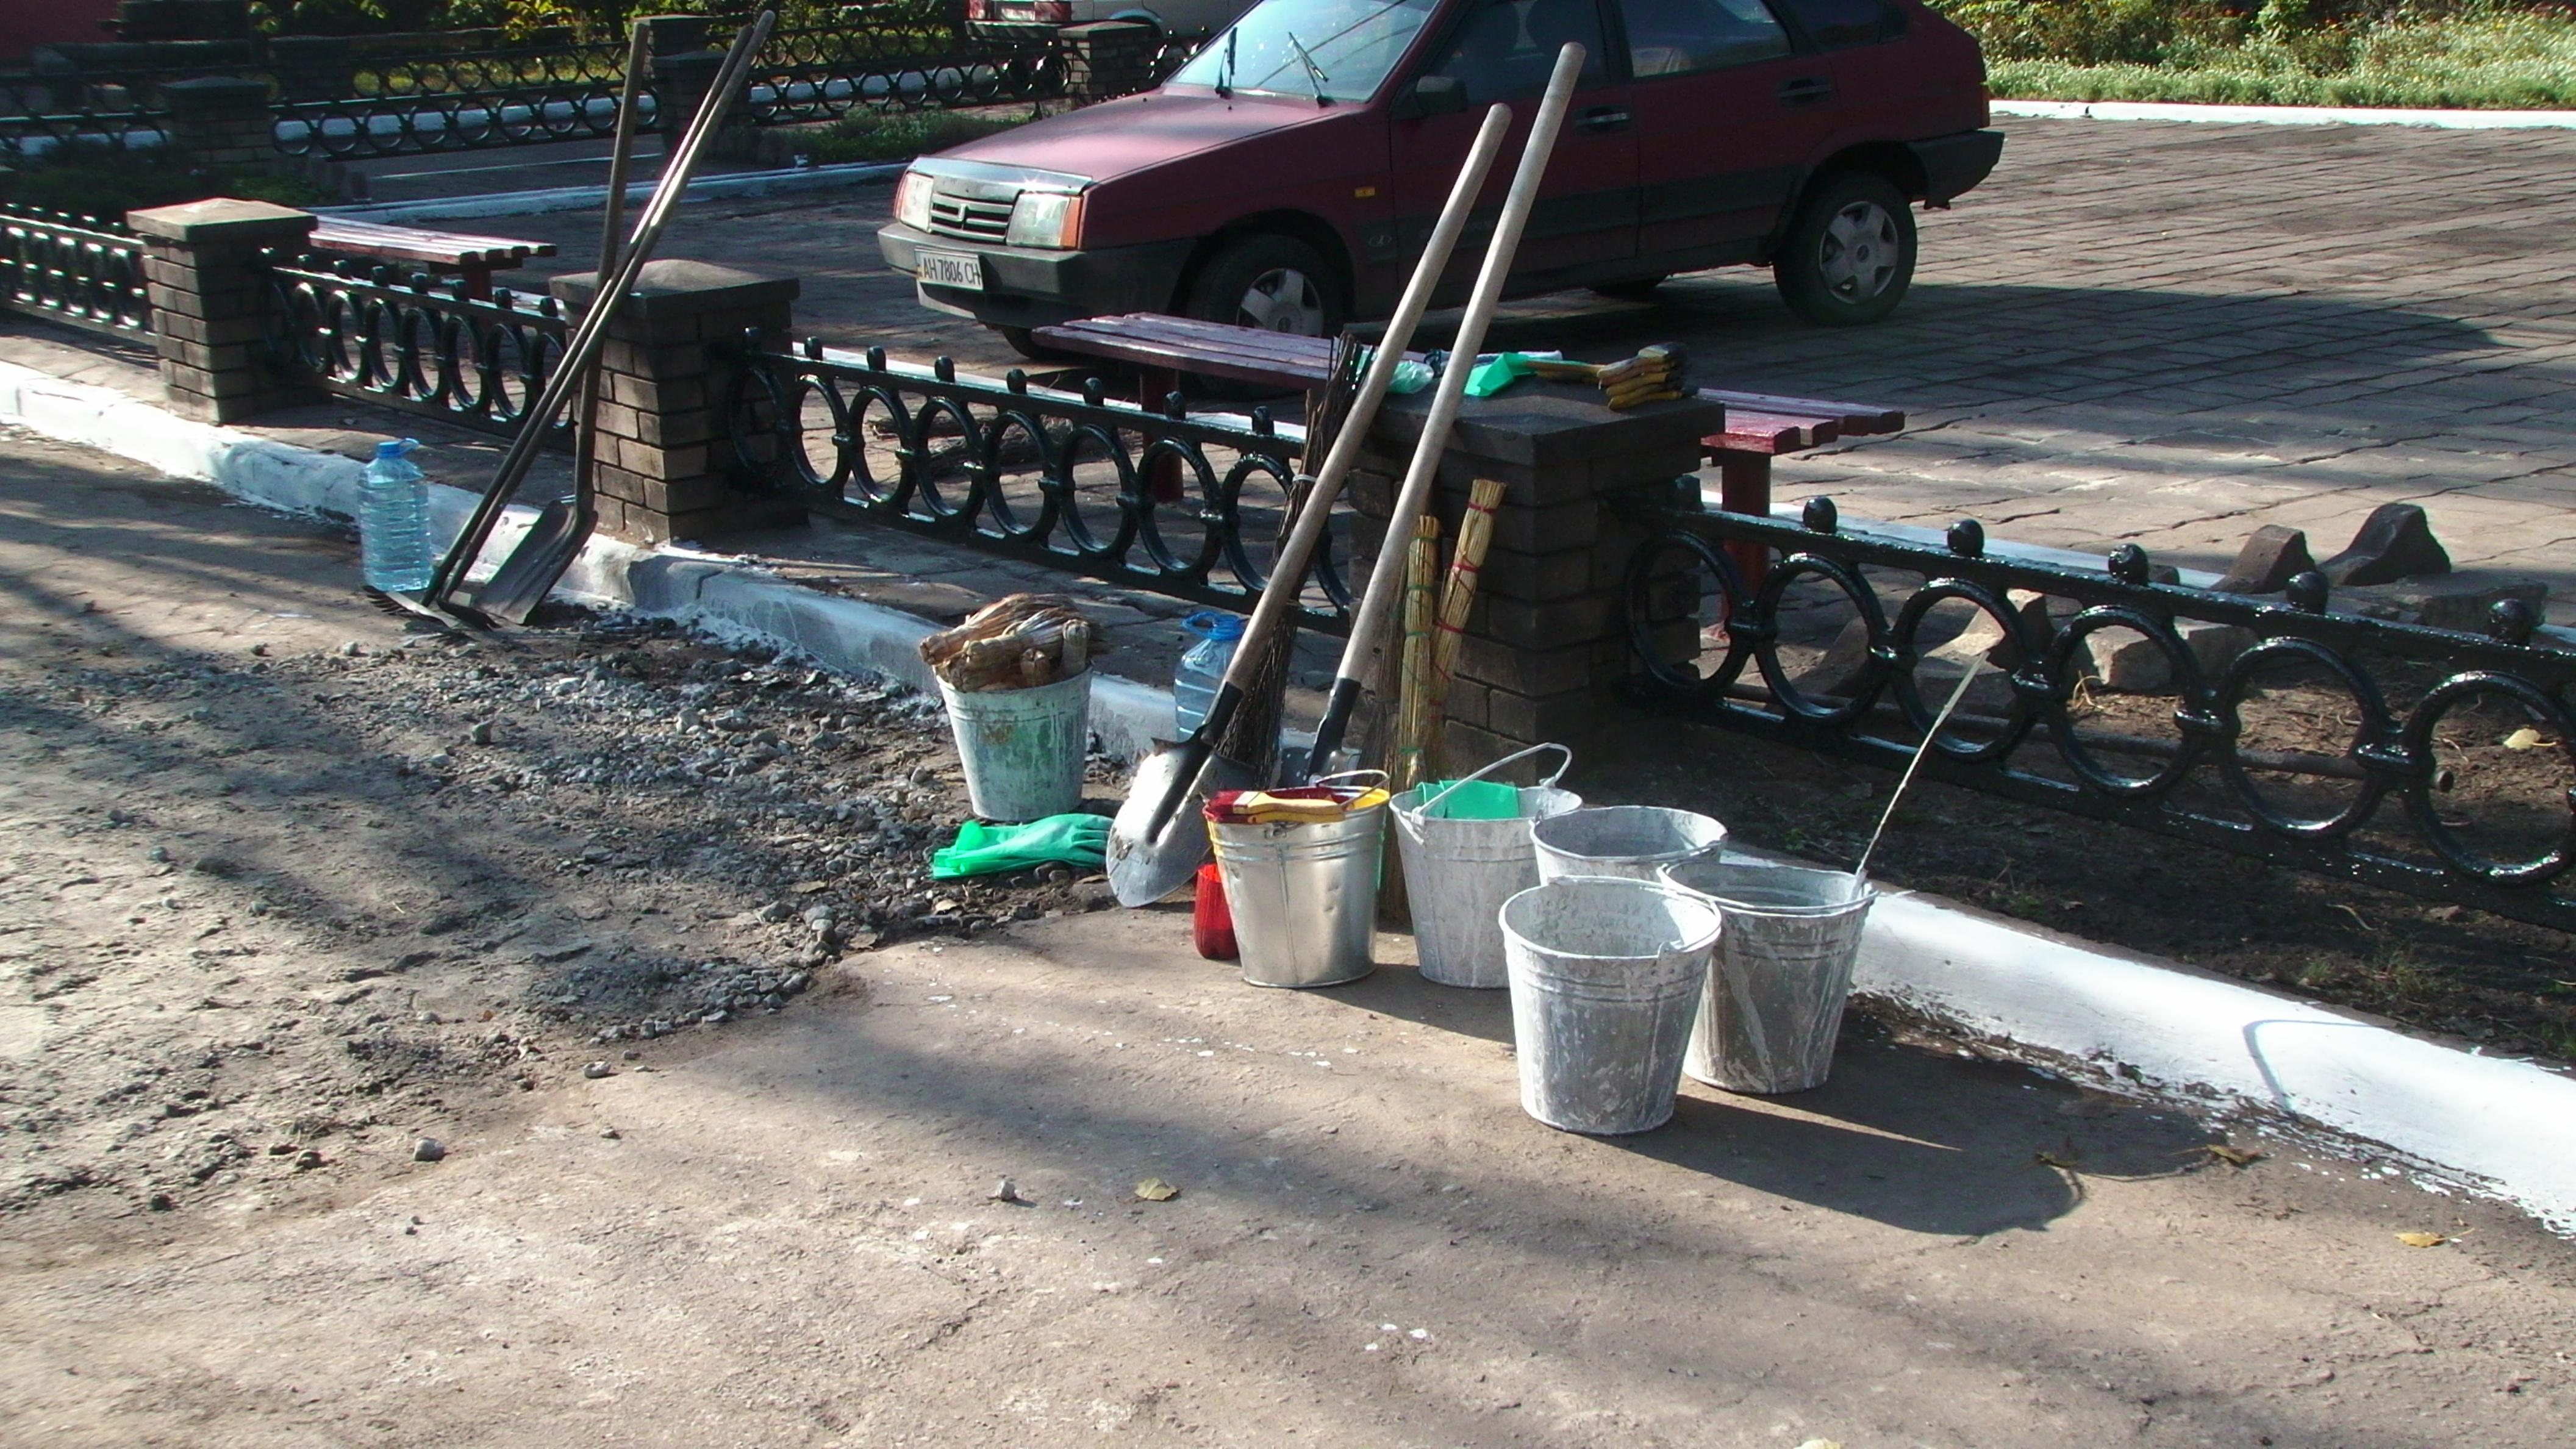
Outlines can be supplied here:
<path id="1" fill-rule="evenodd" d="M 1984 54 L 1922 0 L 1265 0 L 1159 90 L 917 160 L 878 248 L 1020 351 L 1103 312 L 1329 335 L 1394 309 L 1484 108 L 1528 131 L 1564 41 L 1589 62 L 1517 297 L 1770 266 L 1801 317 L 1875 322 L 1911 204 L 2004 147 Z"/>

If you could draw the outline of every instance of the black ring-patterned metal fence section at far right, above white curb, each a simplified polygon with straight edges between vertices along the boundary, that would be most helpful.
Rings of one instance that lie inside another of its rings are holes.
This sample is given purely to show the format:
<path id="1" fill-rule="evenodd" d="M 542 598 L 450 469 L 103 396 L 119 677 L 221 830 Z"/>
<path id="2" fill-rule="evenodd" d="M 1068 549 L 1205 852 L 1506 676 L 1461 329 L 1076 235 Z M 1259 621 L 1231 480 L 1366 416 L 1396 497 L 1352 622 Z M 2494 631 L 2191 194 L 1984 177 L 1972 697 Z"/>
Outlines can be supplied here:
<path id="1" fill-rule="evenodd" d="M 1636 505 L 1641 699 L 1901 766 L 1965 670 L 1924 773 L 2161 835 L 2576 928 L 2576 652 L 2496 601 L 2483 634 L 2329 614 L 2321 575 L 2254 598 L 1847 534 Z M 1759 588 L 1728 544 L 1777 552 Z M 1891 606 L 1893 603 L 1893 606 Z"/>

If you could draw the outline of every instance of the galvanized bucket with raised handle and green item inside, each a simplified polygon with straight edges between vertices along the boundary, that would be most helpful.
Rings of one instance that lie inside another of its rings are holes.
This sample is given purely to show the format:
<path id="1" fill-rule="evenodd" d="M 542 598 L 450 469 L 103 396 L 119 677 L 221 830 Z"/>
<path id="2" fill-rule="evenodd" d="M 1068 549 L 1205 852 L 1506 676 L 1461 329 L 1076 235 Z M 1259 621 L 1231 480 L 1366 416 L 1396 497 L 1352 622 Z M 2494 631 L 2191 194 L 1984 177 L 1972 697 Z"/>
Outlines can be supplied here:
<path id="1" fill-rule="evenodd" d="M 1520 815 L 1510 820 L 1445 820 L 1432 815 L 1440 799 L 1461 784 L 1484 779 L 1502 766 L 1556 750 L 1556 773 L 1520 786 Z M 1530 846 L 1530 820 L 1546 820 L 1582 807 L 1584 797 L 1556 789 L 1574 750 L 1530 745 L 1481 771 L 1445 781 L 1425 799 L 1425 786 L 1406 789 L 1388 807 L 1396 817 L 1396 851 L 1404 856 L 1404 887 L 1414 913 L 1414 954 L 1422 980 L 1463 987 L 1502 987 L 1502 902 L 1538 884 L 1538 848 Z"/>

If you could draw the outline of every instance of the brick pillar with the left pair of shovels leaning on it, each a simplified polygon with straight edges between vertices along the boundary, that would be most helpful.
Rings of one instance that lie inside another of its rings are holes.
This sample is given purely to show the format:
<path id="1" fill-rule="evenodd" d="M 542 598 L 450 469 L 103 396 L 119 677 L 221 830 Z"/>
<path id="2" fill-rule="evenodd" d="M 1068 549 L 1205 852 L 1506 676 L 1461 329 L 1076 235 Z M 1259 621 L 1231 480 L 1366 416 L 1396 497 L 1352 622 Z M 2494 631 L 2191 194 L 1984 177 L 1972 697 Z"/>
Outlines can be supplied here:
<path id="1" fill-rule="evenodd" d="M 556 276 L 554 297 L 580 317 L 600 289 L 592 271 Z M 732 485 L 724 407 L 737 364 L 721 348 L 757 327 L 786 345 L 796 278 L 729 266 L 657 260 L 618 309 L 600 353 L 600 529 L 639 544 L 706 539 L 804 521 L 804 505 Z"/>

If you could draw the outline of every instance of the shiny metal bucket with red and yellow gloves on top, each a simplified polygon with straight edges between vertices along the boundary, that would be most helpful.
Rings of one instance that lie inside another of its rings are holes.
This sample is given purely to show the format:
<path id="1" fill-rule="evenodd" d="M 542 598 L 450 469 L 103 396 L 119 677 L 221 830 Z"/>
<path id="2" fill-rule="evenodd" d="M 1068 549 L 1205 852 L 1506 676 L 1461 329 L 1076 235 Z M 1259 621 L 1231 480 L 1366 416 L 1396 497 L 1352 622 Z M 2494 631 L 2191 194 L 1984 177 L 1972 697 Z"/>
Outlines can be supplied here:
<path id="1" fill-rule="evenodd" d="M 1208 841 L 1226 879 L 1244 982 L 1316 987 L 1355 982 L 1376 969 L 1383 804 L 1352 810 L 1332 825 L 1211 820 Z"/>

